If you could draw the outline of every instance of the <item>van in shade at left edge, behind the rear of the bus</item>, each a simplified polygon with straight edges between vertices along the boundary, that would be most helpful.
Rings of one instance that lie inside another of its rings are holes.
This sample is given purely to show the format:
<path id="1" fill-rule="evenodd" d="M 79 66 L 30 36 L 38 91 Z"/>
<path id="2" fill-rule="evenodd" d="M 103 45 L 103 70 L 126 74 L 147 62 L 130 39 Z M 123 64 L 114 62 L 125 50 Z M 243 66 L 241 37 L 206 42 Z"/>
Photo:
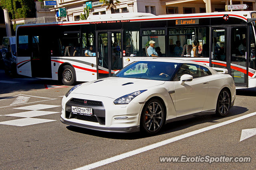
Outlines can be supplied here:
<path id="1" fill-rule="evenodd" d="M 17 74 L 16 67 L 16 37 L 3 37 L 2 41 L 2 57 L 4 63 L 4 71 Z"/>

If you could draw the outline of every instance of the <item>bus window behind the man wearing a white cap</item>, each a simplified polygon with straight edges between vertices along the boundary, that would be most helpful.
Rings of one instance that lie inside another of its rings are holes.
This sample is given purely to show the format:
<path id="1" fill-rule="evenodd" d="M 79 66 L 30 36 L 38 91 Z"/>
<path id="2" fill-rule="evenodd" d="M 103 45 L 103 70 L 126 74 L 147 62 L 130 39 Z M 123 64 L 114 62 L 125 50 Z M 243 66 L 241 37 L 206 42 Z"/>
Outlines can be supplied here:
<path id="1" fill-rule="evenodd" d="M 142 56 L 148 57 L 147 49 L 149 47 L 149 41 L 155 41 L 155 49 L 159 49 L 157 51 L 159 57 L 166 57 L 165 51 L 165 30 L 143 30 L 142 31 Z M 145 50 L 144 50 L 145 49 Z M 145 51 L 145 53 L 144 53 Z M 146 55 L 145 55 L 146 54 Z"/>

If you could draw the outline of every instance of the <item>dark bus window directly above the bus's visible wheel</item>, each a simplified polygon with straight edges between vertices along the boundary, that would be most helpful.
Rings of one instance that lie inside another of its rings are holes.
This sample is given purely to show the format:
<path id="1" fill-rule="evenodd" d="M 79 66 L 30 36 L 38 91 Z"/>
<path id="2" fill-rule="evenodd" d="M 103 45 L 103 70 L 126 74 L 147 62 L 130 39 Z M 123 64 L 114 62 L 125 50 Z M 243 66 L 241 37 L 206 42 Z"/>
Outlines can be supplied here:
<path id="1" fill-rule="evenodd" d="M 62 56 L 80 56 L 80 33 L 62 33 L 60 37 Z"/>

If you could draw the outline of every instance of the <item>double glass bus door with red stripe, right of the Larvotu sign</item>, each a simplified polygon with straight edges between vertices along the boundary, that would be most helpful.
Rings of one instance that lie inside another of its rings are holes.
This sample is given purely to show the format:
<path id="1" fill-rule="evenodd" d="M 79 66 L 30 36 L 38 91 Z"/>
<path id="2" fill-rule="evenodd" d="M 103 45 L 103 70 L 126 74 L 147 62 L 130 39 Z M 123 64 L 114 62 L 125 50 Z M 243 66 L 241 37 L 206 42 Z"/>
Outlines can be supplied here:
<path id="1" fill-rule="evenodd" d="M 247 86 L 246 26 L 212 27 L 211 66 L 228 69 L 236 86 Z"/>

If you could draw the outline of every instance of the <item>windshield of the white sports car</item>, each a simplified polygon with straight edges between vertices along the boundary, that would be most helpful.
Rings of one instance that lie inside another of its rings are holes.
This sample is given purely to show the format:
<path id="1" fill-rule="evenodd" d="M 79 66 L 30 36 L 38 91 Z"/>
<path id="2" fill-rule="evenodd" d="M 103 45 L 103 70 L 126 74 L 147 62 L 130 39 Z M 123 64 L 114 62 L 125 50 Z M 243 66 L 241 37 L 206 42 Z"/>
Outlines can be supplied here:
<path id="1" fill-rule="evenodd" d="M 115 76 L 168 81 L 173 76 L 177 65 L 178 63 L 170 62 L 136 61 L 124 67 Z"/>

